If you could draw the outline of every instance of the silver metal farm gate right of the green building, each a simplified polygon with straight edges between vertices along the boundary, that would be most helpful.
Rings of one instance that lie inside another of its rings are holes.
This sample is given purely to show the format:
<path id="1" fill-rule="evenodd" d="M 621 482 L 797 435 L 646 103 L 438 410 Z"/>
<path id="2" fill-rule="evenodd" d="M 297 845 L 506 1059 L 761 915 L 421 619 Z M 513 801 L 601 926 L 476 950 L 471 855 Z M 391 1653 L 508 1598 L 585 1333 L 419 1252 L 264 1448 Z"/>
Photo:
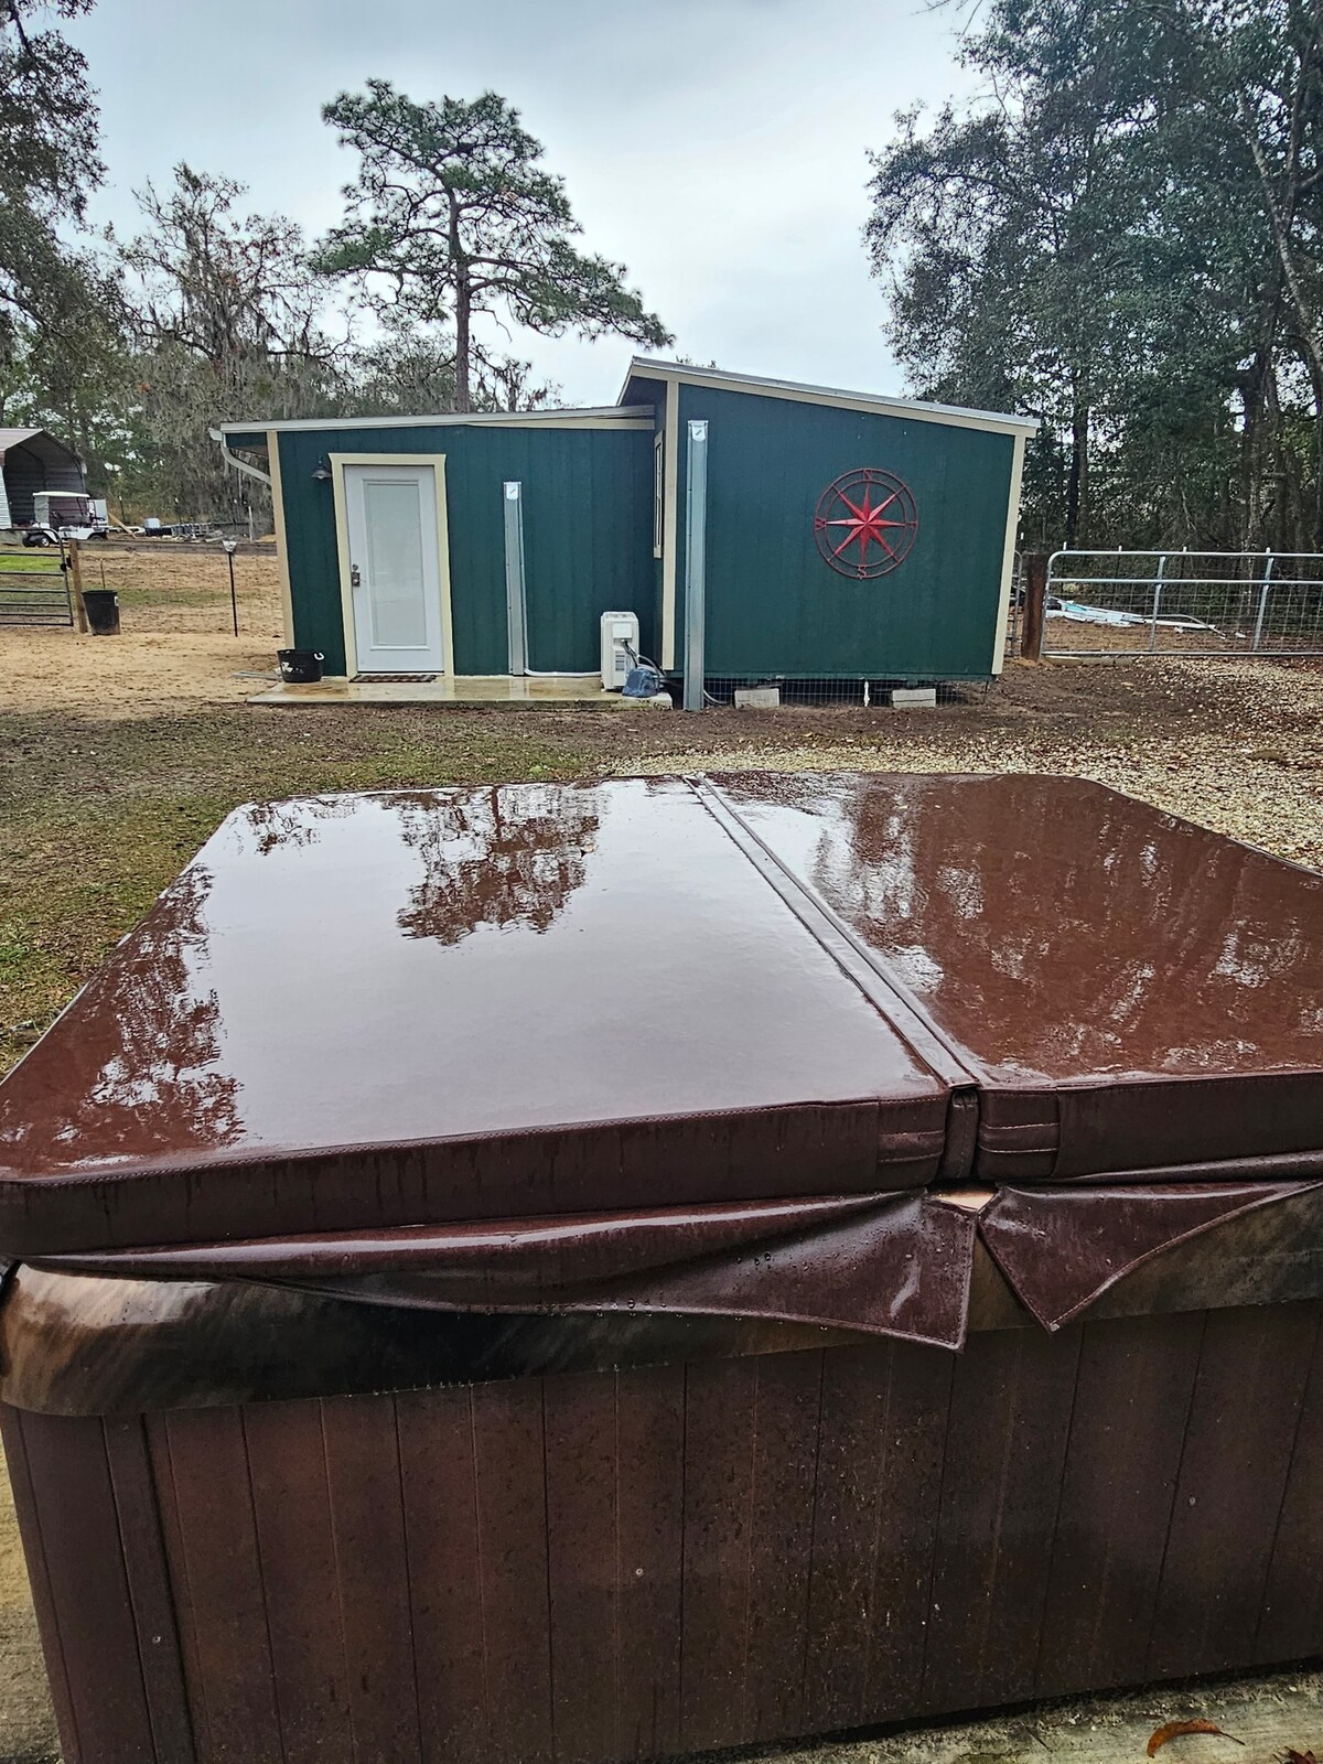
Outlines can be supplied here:
<path id="1" fill-rule="evenodd" d="M 1058 550 L 1044 656 L 1323 654 L 1323 554 Z"/>

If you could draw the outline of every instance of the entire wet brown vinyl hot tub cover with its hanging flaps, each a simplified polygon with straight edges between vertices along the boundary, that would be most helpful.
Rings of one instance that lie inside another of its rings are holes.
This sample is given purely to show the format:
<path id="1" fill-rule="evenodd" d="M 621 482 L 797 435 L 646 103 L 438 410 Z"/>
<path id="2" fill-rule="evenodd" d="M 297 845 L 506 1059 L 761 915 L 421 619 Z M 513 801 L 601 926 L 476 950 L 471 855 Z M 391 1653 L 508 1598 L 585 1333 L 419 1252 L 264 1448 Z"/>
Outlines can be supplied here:
<path id="1" fill-rule="evenodd" d="M 1323 1178 L 1323 878 L 1078 780 L 231 815 L 0 1087 L 0 1258 L 960 1346 Z M 972 1192 L 974 1191 L 974 1192 Z"/>

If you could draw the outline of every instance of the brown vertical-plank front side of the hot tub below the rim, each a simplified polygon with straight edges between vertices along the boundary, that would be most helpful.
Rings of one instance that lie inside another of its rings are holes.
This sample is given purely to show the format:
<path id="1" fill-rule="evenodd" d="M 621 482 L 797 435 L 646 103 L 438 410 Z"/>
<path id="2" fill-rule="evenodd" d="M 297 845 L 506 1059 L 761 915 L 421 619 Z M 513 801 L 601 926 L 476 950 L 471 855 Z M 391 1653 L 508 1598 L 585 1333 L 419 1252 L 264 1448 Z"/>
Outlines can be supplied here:
<path id="1" fill-rule="evenodd" d="M 4 1413 L 65 1750 L 616 1764 L 1309 1656 L 1321 1318 Z"/>

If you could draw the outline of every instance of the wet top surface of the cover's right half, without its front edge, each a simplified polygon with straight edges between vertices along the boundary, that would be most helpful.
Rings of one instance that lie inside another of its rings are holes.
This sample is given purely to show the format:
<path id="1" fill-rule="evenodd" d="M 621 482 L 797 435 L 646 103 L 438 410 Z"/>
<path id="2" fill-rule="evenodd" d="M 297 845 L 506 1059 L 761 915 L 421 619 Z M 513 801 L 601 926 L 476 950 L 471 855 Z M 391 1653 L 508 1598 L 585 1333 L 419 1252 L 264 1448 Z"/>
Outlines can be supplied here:
<path id="1" fill-rule="evenodd" d="M 714 780 L 988 1071 L 1323 1064 L 1323 878 L 1041 776 Z"/>

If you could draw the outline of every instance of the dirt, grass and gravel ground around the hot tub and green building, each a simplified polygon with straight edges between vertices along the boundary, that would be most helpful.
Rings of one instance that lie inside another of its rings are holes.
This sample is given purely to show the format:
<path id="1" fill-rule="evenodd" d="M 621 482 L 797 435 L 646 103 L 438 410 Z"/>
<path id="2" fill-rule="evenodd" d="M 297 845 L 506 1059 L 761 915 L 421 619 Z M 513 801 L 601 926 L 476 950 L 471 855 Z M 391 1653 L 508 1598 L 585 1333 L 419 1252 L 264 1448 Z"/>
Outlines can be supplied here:
<path id="1" fill-rule="evenodd" d="M 125 564 L 138 568 L 132 557 Z M 122 602 L 118 639 L 0 630 L 0 1071 L 212 827 L 250 799 L 718 764 L 1053 771 L 1095 778 L 1323 868 L 1323 669 L 1311 663 L 1018 663 L 986 695 L 905 713 L 258 709 L 242 702 L 254 686 L 242 676 L 273 665 L 270 559 L 252 559 L 238 640 L 229 635 L 228 584 L 213 568 L 206 582 L 192 575 L 169 593 L 125 580 Z M 1157 1722 L 1200 1713 L 1221 1718 L 1245 1750 L 1189 1738 L 1173 1741 L 1164 1759 L 1267 1764 L 1286 1746 L 1319 1750 L 1319 1688 L 1316 1674 L 1279 1674 L 778 1757 L 993 1764 L 1048 1750 L 1140 1760 Z M 0 1482 L 0 1764 L 55 1755 Z"/>

